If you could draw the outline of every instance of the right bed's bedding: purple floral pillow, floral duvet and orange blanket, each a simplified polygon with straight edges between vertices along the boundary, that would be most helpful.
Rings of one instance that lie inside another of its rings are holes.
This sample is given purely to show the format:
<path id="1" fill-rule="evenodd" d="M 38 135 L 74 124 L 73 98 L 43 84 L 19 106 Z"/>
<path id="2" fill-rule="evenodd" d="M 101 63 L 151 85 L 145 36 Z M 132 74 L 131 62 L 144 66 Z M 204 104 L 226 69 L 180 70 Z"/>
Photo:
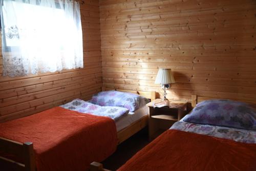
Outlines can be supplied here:
<path id="1" fill-rule="evenodd" d="M 256 106 L 202 101 L 121 170 L 256 170 Z"/>

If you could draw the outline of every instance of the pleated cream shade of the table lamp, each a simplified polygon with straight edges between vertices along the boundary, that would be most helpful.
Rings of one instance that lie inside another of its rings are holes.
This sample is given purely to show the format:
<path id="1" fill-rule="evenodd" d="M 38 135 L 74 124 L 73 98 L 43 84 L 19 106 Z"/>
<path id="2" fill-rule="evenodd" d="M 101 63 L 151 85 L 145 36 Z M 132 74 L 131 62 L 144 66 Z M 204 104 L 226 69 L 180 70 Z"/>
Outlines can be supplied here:
<path id="1" fill-rule="evenodd" d="M 174 76 L 171 69 L 159 69 L 156 77 L 156 84 L 170 84 L 175 83 Z"/>

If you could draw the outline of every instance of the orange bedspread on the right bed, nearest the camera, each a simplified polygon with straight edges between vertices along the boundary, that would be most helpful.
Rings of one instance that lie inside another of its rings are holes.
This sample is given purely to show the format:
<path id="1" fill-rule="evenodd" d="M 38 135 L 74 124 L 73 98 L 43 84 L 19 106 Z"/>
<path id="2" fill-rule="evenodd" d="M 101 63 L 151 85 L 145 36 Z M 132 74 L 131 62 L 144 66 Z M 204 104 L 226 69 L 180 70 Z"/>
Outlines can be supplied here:
<path id="1" fill-rule="evenodd" d="M 256 170 L 256 144 L 168 130 L 121 170 Z"/>

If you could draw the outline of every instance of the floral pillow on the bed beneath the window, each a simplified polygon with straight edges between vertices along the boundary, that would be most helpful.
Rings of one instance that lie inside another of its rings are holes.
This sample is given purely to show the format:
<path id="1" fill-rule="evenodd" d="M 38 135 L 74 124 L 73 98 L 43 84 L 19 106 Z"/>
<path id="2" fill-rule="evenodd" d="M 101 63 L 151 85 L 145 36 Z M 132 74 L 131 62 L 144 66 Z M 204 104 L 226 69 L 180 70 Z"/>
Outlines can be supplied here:
<path id="1" fill-rule="evenodd" d="M 92 99 L 88 102 L 100 106 L 119 106 L 129 109 L 130 112 L 134 112 L 140 107 L 146 105 L 149 100 L 137 94 L 110 90 L 93 95 Z"/>

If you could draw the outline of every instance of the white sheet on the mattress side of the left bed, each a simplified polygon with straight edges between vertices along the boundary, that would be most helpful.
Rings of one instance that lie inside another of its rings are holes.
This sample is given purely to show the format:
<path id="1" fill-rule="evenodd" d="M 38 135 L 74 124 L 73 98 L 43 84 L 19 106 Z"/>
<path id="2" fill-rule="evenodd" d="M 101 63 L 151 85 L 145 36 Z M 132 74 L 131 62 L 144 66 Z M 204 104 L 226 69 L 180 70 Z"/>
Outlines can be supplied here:
<path id="1" fill-rule="evenodd" d="M 131 125 L 133 122 L 139 120 L 143 116 L 146 116 L 148 114 L 148 106 L 143 106 L 140 109 L 129 112 L 128 115 L 125 115 L 121 117 L 119 120 L 116 121 L 116 130 L 121 131 L 125 127 Z"/>

